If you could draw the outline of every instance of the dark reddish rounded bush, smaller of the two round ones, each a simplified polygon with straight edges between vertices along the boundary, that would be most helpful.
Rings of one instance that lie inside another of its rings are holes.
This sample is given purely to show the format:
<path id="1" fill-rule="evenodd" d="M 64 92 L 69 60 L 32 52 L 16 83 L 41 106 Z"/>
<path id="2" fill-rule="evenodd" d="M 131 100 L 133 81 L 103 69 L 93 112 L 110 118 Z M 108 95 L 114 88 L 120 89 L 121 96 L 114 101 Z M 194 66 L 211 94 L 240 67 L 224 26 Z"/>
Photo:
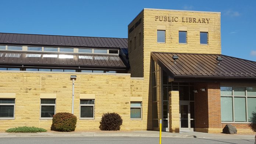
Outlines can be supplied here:
<path id="1" fill-rule="evenodd" d="M 120 130 L 122 117 L 115 112 L 108 112 L 102 115 L 100 130 Z"/>

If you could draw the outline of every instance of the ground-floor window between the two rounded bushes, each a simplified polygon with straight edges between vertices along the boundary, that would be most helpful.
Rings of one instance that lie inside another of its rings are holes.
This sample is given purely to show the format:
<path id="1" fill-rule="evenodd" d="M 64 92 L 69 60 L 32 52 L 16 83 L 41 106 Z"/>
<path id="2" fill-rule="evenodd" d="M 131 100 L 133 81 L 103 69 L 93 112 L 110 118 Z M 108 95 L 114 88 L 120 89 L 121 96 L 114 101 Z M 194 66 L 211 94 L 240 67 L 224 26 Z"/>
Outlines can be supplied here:
<path id="1" fill-rule="evenodd" d="M 95 100 L 80 100 L 80 118 L 94 119 Z"/>

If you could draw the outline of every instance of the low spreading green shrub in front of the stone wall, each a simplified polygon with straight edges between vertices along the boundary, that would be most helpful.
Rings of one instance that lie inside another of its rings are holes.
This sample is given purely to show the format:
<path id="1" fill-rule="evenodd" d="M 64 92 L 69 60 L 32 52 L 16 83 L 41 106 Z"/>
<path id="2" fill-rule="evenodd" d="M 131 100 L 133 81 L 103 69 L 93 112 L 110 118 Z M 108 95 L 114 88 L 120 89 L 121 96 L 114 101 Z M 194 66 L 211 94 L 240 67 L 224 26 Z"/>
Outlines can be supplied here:
<path id="1" fill-rule="evenodd" d="M 29 126 L 19 126 L 6 130 L 7 133 L 37 133 L 37 132 L 47 132 L 46 129 L 39 127 L 29 127 Z"/>

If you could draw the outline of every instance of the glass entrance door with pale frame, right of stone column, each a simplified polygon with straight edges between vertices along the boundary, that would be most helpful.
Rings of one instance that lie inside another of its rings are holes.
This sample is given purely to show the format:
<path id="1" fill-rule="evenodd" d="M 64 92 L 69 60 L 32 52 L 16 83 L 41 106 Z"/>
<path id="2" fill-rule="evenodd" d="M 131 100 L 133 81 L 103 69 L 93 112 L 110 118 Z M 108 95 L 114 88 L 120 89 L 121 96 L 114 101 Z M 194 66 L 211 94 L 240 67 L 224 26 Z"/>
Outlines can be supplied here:
<path id="1" fill-rule="evenodd" d="M 179 101 L 179 130 L 191 131 L 189 101 Z"/>

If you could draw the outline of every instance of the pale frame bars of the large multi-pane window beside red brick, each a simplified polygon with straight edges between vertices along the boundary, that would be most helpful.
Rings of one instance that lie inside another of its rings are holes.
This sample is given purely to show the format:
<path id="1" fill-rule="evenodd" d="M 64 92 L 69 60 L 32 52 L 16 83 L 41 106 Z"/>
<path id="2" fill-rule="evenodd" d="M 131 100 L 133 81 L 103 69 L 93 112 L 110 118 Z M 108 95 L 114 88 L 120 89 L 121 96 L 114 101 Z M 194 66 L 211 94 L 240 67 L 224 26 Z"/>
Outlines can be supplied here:
<path id="1" fill-rule="evenodd" d="M 255 86 L 225 86 L 225 85 L 221 85 L 220 87 L 232 87 L 232 95 L 231 96 L 221 96 L 220 94 L 220 98 L 221 97 L 231 97 L 232 98 L 232 119 L 233 121 L 221 121 L 221 123 L 256 123 L 256 122 L 249 122 L 249 118 L 248 118 L 248 102 L 247 102 L 247 99 L 250 98 L 250 97 L 254 97 L 256 98 L 256 96 L 247 96 L 247 88 L 248 87 L 253 87 L 253 88 L 256 88 Z M 242 88 L 245 88 L 245 96 L 235 96 L 234 95 L 234 87 L 242 87 Z M 235 121 L 235 97 L 244 97 L 245 98 L 245 119 L 246 119 L 246 122 L 238 122 L 238 121 Z M 220 117 L 221 118 L 221 117 Z"/>

